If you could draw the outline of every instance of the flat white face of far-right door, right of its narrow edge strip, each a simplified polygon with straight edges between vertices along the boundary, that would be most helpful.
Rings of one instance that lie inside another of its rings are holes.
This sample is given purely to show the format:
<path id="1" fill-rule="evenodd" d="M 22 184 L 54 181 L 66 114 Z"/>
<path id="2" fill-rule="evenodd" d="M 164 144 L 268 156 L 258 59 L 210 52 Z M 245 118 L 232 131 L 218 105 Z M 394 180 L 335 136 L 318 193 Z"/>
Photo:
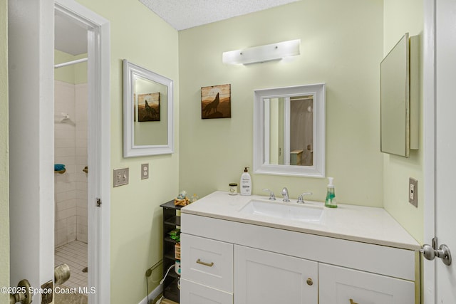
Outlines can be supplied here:
<path id="1" fill-rule="evenodd" d="M 435 236 L 456 253 L 456 1 L 436 3 Z M 456 263 L 435 267 L 435 303 L 456 303 Z"/>

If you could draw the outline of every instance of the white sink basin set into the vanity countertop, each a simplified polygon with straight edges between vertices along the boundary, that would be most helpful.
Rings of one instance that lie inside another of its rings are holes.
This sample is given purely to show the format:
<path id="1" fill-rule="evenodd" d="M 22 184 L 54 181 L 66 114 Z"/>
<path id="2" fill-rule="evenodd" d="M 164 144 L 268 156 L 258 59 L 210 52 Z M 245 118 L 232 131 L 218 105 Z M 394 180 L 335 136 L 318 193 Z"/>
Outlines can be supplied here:
<path id="1" fill-rule="evenodd" d="M 239 210 L 239 213 L 318 223 L 321 221 L 323 207 L 252 199 Z"/>

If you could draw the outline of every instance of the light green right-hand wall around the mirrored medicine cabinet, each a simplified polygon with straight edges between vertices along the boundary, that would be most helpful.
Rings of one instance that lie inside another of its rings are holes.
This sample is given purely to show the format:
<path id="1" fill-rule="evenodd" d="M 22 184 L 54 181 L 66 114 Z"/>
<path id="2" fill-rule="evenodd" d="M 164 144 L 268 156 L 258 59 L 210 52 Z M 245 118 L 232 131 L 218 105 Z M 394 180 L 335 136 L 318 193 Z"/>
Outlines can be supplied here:
<path id="1" fill-rule="evenodd" d="M 383 54 L 386 55 L 405 32 L 423 41 L 423 1 L 384 0 Z M 423 46 L 420 46 L 423 63 Z M 410 158 L 384 154 L 383 196 L 385 209 L 420 243 L 423 243 L 423 66 L 420 67 L 420 147 Z M 418 209 L 408 203 L 408 178 L 418 179 Z"/>

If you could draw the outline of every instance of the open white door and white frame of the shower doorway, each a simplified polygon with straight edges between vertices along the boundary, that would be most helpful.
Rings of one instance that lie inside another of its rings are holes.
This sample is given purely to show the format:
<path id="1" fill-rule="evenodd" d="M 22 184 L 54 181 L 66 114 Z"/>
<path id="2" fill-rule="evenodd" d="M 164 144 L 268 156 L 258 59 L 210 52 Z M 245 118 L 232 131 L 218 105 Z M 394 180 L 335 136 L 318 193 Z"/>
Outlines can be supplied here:
<path id="1" fill-rule="evenodd" d="M 73 0 L 56 0 L 56 8 L 54 1 L 9 0 L 10 283 L 27 279 L 37 291 L 33 303 L 48 303 L 38 288 L 54 278 L 54 9 L 88 29 L 88 283 L 95 288 L 88 298 L 109 303 L 110 110 L 101 110 L 110 108 L 109 23 Z"/>

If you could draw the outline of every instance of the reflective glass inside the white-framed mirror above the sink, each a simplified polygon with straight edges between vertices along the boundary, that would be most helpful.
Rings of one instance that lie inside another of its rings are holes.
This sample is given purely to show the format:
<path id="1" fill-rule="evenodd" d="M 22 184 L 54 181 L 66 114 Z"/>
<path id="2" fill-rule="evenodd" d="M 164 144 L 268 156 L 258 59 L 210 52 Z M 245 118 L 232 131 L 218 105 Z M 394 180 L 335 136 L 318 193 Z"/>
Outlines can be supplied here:
<path id="1" fill-rule="evenodd" d="M 265 98 L 269 164 L 314 165 L 314 96 Z M 269 127 L 267 126 L 269 124 Z"/>

